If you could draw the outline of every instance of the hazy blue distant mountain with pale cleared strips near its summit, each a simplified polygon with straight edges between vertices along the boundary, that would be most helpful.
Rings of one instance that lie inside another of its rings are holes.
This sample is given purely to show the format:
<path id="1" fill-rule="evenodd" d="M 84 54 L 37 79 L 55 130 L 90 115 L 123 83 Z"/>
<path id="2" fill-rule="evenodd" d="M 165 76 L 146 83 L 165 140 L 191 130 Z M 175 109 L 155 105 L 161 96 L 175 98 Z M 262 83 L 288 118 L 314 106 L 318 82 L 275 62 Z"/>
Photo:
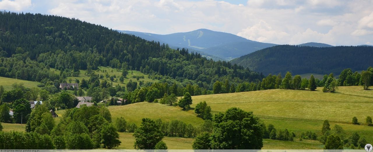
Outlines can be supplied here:
<path id="1" fill-rule="evenodd" d="M 135 31 L 119 31 L 127 34 L 133 34 L 145 40 L 159 41 L 167 43 L 171 47 L 185 47 L 206 53 L 207 56 L 216 56 L 230 60 L 242 55 L 264 49 L 266 47 L 276 46 L 277 44 L 261 43 L 251 41 L 234 34 L 199 29 L 191 32 L 179 32 L 173 34 L 153 34 Z"/>

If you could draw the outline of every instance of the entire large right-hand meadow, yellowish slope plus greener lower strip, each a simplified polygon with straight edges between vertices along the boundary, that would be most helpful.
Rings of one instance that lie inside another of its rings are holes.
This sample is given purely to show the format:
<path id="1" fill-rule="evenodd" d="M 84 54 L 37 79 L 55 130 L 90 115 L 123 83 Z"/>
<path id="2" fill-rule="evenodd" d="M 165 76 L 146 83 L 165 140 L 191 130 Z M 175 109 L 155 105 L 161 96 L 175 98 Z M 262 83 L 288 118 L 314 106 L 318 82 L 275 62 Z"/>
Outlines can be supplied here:
<path id="1" fill-rule="evenodd" d="M 373 142 L 373 127 L 364 124 L 367 116 L 373 116 L 367 107 L 373 106 L 373 90 L 361 86 L 339 87 L 337 93 L 307 90 L 262 90 L 230 94 L 192 96 L 194 107 L 206 101 L 213 112 L 224 112 L 231 107 L 253 111 L 265 124 L 276 128 L 288 128 L 300 135 L 303 131 L 320 132 L 323 120 L 330 127 L 341 125 L 347 135 L 357 132 Z M 361 125 L 352 125 L 357 117 Z"/>

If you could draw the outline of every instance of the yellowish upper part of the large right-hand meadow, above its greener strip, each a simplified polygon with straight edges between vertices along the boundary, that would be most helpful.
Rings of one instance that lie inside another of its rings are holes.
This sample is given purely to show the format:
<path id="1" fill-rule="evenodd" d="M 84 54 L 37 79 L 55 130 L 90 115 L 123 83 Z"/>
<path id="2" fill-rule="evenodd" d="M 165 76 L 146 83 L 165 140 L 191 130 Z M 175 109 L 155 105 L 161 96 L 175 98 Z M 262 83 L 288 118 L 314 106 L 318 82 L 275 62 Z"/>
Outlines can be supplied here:
<path id="1" fill-rule="evenodd" d="M 373 91 L 362 87 L 340 87 L 338 93 L 307 90 L 262 90 L 229 94 L 193 96 L 194 107 L 206 101 L 215 112 L 231 107 L 253 111 L 258 116 L 350 122 L 352 117 L 365 120 L 372 116 Z"/>

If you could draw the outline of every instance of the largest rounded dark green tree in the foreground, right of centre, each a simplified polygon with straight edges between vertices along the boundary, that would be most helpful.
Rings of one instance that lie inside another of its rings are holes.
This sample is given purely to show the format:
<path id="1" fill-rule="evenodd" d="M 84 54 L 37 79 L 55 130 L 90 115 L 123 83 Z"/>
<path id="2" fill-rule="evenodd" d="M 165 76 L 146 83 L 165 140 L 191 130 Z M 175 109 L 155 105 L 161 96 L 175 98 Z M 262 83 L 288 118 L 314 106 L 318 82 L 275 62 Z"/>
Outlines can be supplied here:
<path id="1" fill-rule="evenodd" d="M 229 108 L 225 114 L 215 115 L 211 134 L 211 149 L 261 149 L 263 130 L 252 112 Z"/>

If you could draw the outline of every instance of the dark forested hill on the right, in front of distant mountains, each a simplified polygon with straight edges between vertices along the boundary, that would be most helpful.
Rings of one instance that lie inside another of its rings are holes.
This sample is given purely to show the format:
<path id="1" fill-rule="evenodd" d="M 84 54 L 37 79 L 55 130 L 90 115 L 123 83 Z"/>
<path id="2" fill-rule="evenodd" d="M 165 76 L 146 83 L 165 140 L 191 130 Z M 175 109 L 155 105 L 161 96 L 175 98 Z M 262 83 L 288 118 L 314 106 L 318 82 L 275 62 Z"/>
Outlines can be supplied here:
<path id="1" fill-rule="evenodd" d="M 373 66 L 373 47 L 281 45 L 258 50 L 231 62 L 263 74 L 285 74 L 286 71 L 292 74 L 329 74 L 346 68 L 358 71 Z"/>

